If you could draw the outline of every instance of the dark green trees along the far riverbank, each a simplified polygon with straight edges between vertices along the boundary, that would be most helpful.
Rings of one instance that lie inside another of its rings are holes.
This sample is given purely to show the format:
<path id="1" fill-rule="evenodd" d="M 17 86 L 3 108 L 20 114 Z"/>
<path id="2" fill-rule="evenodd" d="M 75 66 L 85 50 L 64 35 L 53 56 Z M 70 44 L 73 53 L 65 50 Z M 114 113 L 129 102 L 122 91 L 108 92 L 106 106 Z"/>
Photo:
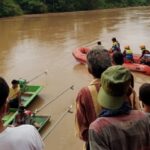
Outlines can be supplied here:
<path id="1" fill-rule="evenodd" d="M 0 17 L 150 5 L 150 0 L 0 0 Z"/>

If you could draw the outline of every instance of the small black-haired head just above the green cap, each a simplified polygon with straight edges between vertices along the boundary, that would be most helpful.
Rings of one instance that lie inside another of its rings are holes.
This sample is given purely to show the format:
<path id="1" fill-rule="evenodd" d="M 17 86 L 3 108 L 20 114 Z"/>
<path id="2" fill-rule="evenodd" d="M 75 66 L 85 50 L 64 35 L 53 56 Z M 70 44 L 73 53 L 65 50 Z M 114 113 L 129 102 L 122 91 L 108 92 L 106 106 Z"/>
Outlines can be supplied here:
<path id="1" fill-rule="evenodd" d="M 124 63 L 124 57 L 121 52 L 114 52 L 112 56 L 112 63 L 114 65 L 122 65 Z"/>

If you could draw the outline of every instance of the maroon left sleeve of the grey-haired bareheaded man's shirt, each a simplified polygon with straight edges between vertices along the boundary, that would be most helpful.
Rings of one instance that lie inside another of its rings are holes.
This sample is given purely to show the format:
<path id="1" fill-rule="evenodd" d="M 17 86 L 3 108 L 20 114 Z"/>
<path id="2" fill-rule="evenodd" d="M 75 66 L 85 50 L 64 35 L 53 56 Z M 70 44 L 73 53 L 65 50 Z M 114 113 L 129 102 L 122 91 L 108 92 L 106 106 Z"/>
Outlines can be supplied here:
<path id="1" fill-rule="evenodd" d="M 80 139 L 87 141 L 88 140 L 88 129 L 89 121 L 86 115 L 86 106 L 84 101 L 88 101 L 88 96 L 85 94 L 86 90 L 82 89 L 78 93 L 76 98 L 76 115 L 75 115 L 75 124 L 76 124 L 76 133 Z"/>

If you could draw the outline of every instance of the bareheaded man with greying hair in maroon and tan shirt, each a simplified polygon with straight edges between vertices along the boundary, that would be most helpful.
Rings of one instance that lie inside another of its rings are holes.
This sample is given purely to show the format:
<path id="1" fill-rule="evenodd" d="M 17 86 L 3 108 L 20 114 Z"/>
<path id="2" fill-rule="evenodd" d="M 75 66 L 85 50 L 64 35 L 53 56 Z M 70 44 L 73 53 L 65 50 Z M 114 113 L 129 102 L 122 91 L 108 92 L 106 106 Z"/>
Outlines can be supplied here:
<path id="1" fill-rule="evenodd" d="M 101 109 L 97 103 L 97 95 L 100 88 L 101 74 L 111 66 L 111 59 L 107 50 L 92 49 L 87 54 L 87 65 L 89 73 L 93 75 L 93 81 L 83 87 L 76 98 L 75 123 L 77 135 L 88 143 L 88 129 Z M 88 148 L 87 148 L 88 149 Z"/>

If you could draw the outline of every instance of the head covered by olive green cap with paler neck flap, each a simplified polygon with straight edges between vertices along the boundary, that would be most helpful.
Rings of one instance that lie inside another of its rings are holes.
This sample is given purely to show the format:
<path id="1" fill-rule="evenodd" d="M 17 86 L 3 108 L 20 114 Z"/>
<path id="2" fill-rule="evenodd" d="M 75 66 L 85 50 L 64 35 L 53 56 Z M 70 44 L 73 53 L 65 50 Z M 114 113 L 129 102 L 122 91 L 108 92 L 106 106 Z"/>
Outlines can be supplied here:
<path id="1" fill-rule="evenodd" d="M 131 72 L 121 65 L 109 67 L 101 76 L 99 104 L 107 109 L 119 109 L 126 101 L 131 84 Z"/>

